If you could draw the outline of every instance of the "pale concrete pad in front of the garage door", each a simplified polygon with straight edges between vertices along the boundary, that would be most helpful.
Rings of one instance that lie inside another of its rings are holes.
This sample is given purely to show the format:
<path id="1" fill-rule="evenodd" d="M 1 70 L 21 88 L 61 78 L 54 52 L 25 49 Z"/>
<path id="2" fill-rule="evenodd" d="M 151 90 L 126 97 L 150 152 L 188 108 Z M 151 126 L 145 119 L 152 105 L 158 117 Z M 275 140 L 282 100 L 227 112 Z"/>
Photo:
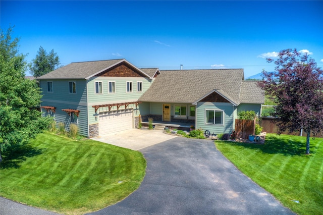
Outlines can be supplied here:
<path id="1" fill-rule="evenodd" d="M 175 137 L 177 136 L 164 134 L 161 130 L 128 129 L 91 139 L 123 148 L 139 150 Z"/>

